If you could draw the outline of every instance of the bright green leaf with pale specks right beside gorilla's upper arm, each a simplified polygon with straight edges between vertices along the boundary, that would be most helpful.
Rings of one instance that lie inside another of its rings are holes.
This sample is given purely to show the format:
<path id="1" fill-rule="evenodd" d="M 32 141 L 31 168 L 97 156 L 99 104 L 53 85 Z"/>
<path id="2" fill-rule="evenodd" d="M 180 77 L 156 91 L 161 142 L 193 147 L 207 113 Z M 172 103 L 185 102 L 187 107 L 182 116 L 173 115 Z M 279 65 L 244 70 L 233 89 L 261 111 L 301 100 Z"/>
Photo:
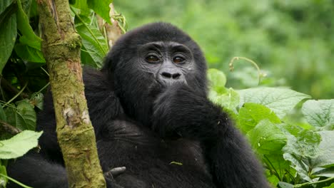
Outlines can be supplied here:
<path id="1" fill-rule="evenodd" d="M 281 149 L 286 143 L 285 134 L 270 120 L 261 120 L 246 136 L 253 149 L 260 155 L 281 154 Z"/>

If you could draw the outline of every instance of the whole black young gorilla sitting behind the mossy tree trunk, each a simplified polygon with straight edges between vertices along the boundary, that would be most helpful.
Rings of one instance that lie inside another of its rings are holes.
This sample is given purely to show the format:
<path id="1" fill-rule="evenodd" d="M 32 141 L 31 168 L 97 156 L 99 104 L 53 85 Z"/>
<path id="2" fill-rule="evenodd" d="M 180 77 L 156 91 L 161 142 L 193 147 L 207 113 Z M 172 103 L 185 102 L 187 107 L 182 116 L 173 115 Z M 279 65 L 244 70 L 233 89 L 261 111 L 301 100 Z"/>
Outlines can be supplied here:
<path id="1" fill-rule="evenodd" d="M 207 98 L 206 60 L 168 23 L 123 35 L 101 71 L 83 80 L 108 187 L 269 187 L 250 147 L 221 107 Z M 9 166 L 32 187 L 68 187 L 51 95 L 39 114 L 41 152 Z M 9 184 L 9 187 L 15 184 Z"/>

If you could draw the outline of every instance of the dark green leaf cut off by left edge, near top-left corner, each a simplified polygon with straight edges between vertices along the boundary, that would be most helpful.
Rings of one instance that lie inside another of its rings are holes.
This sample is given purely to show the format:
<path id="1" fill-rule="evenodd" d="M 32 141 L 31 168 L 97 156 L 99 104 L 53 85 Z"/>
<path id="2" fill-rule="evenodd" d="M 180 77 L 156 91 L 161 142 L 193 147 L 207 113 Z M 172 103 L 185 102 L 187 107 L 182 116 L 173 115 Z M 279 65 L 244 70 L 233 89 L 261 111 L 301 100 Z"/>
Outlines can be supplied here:
<path id="1" fill-rule="evenodd" d="M 4 0 L 2 0 L 4 1 Z M 0 15 L 0 75 L 6 65 L 16 41 L 16 14 L 13 6 Z"/>

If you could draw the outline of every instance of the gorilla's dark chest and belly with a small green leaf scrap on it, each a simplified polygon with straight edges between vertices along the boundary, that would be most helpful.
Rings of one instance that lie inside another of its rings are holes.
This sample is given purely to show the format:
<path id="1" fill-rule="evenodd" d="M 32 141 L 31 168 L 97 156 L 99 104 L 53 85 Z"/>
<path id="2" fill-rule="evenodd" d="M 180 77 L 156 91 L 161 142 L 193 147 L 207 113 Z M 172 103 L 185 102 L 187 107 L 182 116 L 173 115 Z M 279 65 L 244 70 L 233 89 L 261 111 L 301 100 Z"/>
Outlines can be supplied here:
<path id="1" fill-rule="evenodd" d="M 126 167 L 116 177 L 124 187 L 214 187 L 197 142 L 161 140 L 150 130 L 115 121 L 97 145 L 104 172 Z"/>

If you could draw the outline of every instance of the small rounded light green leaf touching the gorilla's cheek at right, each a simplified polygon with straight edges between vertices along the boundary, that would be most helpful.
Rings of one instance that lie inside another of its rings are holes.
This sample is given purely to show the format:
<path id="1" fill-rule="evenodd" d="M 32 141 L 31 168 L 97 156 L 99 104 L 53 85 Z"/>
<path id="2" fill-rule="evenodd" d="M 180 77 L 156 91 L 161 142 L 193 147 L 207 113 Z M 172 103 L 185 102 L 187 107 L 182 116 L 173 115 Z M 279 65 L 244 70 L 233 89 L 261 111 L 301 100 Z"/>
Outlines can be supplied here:
<path id="1" fill-rule="evenodd" d="M 215 68 L 210 68 L 208 70 L 208 80 L 210 82 L 211 89 L 216 91 L 216 93 L 226 93 L 226 75 L 223 72 L 218 71 Z"/>

